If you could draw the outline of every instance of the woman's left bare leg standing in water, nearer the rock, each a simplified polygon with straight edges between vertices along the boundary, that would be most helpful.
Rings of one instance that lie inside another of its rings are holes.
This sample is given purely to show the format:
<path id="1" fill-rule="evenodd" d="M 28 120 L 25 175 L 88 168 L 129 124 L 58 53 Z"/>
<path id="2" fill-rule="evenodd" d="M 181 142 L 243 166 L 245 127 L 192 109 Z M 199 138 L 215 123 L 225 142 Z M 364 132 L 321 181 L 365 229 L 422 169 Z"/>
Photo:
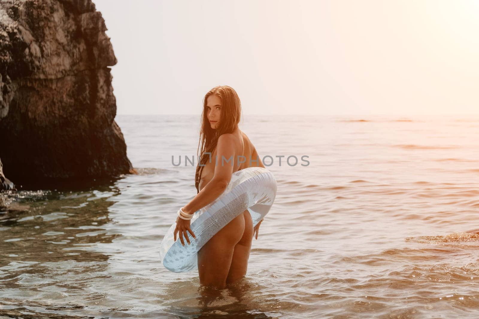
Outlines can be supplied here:
<path id="1" fill-rule="evenodd" d="M 243 214 L 239 214 L 201 247 L 198 251 L 198 275 L 201 285 L 218 289 L 226 287 L 235 245 L 241 239 L 244 228 Z"/>

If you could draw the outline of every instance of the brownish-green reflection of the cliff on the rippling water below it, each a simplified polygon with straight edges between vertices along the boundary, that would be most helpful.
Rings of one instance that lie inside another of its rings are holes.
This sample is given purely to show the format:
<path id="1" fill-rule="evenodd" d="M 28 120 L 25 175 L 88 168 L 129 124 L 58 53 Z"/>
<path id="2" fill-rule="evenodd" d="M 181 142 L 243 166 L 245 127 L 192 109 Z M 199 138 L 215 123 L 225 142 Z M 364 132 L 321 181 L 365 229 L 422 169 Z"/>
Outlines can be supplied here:
<path id="1" fill-rule="evenodd" d="M 113 252 L 104 245 L 121 236 L 108 226 L 108 208 L 118 194 L 113 180 L 84 190 L 3 194 L 7 205 L 0 215 L 0 280 L 8 295 L 1 296 L 2 315 L 38 318 L 40 313 L 51 311 L 53 316 L 84 308 L 75 297 L 79 290 L 89 298 L 101 297 L 103 293 L 90 288 L 95 279 L 109 276 L 107 261 Z M 24 311 L 9 310 L 9 304 L 21 304 Z M 35 308 L 42 311 L 35 313 Z"/>

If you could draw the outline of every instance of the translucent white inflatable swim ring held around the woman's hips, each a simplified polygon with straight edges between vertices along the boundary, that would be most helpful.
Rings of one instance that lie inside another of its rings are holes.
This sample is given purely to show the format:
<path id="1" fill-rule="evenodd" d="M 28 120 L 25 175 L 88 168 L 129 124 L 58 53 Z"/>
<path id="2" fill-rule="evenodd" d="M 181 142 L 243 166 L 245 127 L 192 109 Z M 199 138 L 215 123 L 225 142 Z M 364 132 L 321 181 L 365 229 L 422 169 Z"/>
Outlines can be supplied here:
<path id="1" fill-rule="evenodd" d="M 246 209 L 250 211 L 253 227 L 256 226 L 270 210 L 275 197 L 276 179 L 266 168 L 249 167 L 233 173 L 225 191 L 194 213 L 190 227 L 196 239 L 188 233 L 191 244 L 184 239 L 183 246 L 178 234 L 174 242 L 176 222 L 171 225 L 161 242 L 161 263 L 175 273 L 197 269 L 197 253 L 213 235 Z"/>

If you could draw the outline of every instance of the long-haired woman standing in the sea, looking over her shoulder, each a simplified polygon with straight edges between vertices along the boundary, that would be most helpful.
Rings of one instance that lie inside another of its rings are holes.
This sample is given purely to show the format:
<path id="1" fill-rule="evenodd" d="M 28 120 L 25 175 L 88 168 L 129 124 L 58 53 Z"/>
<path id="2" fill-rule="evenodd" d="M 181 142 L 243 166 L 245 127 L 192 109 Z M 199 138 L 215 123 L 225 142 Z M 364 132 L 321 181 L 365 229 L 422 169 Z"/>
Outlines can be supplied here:
<path id="1" fill-rule="evenodd" d="M 185 214 L 193 214 L 217 199 L 234 172 L 247 167 L 264 167 L 248 136 L 239 130 L 240 115 L 241 103 L 233 88 L 218 86 L 206 93 L 200 132 L 198 164 L 201 165 L 196 166 L 195 175 L 197 195 L 182 208 Z M 228 161 L 231 156 L 233 160 Z M 206 242 L 198 251 L 201 285 L 224 289 L 246 275 L 251 242 L 254 234 L 258 239 L 260 224 L 261 221 L 253 229 L 247 209 Z M 187 232 L 196 238 L 190 220 L 177 218 L 174 240 L 178 233 L 182 245 L 183 236 L 190 243 Z"/>

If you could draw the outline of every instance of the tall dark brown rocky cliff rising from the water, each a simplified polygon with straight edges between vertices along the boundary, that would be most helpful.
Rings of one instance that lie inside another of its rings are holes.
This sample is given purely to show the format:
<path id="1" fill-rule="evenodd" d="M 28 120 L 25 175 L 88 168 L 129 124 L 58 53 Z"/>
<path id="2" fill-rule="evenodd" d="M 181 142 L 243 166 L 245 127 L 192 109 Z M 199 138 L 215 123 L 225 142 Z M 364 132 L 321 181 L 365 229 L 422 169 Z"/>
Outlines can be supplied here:
<path id="1" fill-rule="evenodd" d="M 16 184 L 133 173 L 91 0 L 0 1 L 0 158 Z"/>

